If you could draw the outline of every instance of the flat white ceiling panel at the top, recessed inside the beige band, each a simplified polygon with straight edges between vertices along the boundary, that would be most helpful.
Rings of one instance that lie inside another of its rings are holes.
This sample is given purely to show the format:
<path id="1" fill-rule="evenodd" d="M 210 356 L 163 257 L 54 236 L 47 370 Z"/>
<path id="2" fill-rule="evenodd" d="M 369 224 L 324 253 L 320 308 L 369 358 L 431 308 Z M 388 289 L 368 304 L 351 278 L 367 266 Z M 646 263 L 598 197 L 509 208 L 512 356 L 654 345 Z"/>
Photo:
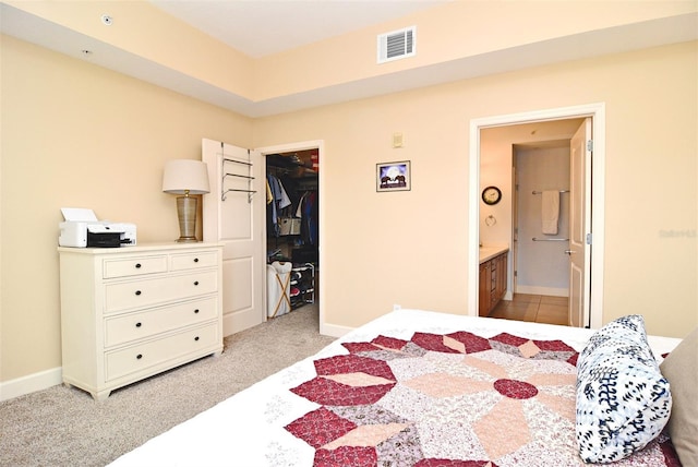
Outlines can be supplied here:
<path id="1" fill-rule="evenodd" d="M 453 0 L 148 0 L 232 48 L 260 58 Z"/>

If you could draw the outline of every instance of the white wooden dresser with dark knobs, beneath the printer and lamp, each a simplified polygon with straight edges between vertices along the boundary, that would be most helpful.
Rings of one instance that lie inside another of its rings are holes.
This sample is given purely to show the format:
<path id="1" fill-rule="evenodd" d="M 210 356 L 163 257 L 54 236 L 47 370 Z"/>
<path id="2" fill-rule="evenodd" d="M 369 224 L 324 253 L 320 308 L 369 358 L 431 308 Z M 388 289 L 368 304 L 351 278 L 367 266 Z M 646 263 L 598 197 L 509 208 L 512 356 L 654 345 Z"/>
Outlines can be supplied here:
<path id="1" fill-rule="evenodd" d="M 218 243 L 59 248 L 63 383 L 97 400 L 222 351 Z"/>

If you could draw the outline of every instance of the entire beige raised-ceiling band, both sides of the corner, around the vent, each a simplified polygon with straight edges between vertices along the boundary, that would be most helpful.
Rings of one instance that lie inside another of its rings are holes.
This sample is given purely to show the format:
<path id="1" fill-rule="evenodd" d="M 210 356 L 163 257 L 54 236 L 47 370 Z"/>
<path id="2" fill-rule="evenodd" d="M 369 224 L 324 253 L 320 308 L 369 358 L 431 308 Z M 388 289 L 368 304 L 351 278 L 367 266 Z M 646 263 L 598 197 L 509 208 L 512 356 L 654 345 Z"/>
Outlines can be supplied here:
<path id="1" fill-rule="evenodd" d="M 657 22 L 691 14 L 698 9 L 694 0 L 459 0 L 327 40 L 251 59 L 146 1 L 5 2 L 251 101 L 361 83 L 370 77 L 434 64 L 482 59 L 483 55 L 493 51 Z M 111 26 L 106 27 L 98 20 L 105 12 L 115 20 Z M 410 60 L 377 64 L 376 35 L 410 25 L 418 26 L 418 55 Z M 583 43 L 585 39 L 579 40 Z M 518 61 L 519 57 L 513 59 Z M 502 65 L 491 64 L 497 69 Z"/>

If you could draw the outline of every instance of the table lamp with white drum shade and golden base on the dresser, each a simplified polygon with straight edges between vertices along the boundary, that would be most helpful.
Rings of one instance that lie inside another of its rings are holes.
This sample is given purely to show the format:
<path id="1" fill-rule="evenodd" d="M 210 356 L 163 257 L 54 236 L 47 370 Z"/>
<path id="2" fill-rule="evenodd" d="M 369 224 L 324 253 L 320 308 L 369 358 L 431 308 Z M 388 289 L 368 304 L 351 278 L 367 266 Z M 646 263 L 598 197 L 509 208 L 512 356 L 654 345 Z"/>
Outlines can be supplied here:
<path id="1" fill-rule="evenodd" d="M 173 159 L 165 163 L 163 191 L 183 194 L 177 197 L 180 237 L 178 242 L 196 240 L 196 197 L 191 194 L 208 193 L 206 163 L 193 159 Z"/>

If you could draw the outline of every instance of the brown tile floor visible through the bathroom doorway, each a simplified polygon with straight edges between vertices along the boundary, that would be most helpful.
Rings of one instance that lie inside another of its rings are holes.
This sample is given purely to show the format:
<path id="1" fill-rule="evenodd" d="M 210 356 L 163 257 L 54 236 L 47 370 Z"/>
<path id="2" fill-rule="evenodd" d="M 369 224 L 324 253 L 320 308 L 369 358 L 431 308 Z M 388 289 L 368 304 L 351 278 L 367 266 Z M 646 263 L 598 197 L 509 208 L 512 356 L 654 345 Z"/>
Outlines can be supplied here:
<path id="1" fill-rule="evenodd" d="M 567 325 L 567 297 L 515 294 L 501 300 L 490 318 Z"/>

